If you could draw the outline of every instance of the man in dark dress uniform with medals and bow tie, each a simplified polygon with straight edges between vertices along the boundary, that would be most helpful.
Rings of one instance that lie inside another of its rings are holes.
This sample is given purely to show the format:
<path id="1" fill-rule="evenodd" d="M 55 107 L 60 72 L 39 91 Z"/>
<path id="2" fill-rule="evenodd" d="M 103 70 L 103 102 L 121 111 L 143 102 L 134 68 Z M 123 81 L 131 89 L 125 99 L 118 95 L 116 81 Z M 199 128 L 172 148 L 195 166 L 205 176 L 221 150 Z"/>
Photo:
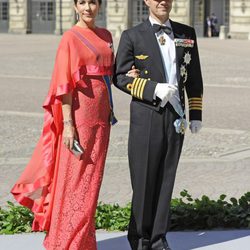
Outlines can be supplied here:
<path id="1" fill-rule="evenodd" d="M 128 239 L 133 250 L 170 249 L 165 235 L 185 122 L 201 128 L 203 83 L 193 28 L 169 20 L 172 0 L 144 0 L 149 19 L 122 33 L 115 85 L 132 96 L 129 166 L 133 188 Z M 130 77 L 131 68 L 140 76 Z"/>

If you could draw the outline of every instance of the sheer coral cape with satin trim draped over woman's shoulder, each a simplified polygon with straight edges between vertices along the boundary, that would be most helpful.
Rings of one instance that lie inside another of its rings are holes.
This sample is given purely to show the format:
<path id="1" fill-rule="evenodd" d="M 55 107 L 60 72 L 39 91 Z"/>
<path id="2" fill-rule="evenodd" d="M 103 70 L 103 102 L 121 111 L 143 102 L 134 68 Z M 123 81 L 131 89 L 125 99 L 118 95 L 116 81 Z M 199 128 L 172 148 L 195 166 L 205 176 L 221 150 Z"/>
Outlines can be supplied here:
<path id="1" fill-rule="evenodd" d="M 30 162 L 11 190 L 14 198 L 34 213 L 34 231 L 48 230 L 50 226 L 55 190 L 53 180 L 57 178 L 63 131 L 61 96 L 72 92 L 86 75 L 111 76 L 113 73 L 113 53 L 108 57 L 93 54 L 74 31 L 80 32 L 79 27 L 65 32 L 59 44 L 50 89 L 43 104 L 42 135 Z M 91 32 L 100 33 L 100 39 L 112 46 L 108 31 L 96 28 L 87 32 L 90 36 Z"/>

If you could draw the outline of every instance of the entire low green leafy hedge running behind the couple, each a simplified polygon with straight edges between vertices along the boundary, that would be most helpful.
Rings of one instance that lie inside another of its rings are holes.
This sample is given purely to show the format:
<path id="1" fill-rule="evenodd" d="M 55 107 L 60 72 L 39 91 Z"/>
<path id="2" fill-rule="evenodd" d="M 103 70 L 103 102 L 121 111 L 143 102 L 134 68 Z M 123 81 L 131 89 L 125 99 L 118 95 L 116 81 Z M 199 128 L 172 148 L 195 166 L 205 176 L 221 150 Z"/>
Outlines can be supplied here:
<path id="1" fill-rule="evenodd" d="M 203 195 L 193 199 L 187 190 L 180 198 L 172 199 L 170 230 L 207 230 L 222 228 L 250 228 L 250 192 L 238 200 L 226 201 L 222 194 L 218 200 Z M 31 232 L 33 214 L 29 209 L 7 202 L 8 209 L 0 208 L 0 234 Z M 96 209 L 96 228 L 110 231 L 128 229 L 131 204 L 99 203 Z"/>

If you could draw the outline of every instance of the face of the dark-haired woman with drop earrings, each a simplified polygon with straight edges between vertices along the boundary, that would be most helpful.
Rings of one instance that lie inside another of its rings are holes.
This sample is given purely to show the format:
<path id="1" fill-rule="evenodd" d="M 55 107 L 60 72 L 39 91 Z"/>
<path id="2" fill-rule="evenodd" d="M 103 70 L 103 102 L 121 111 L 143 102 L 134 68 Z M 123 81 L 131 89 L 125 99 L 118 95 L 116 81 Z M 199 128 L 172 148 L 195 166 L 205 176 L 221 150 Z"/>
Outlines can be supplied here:
<path id="1" fill-rule="evenodd" d="M 75 11 L 79 13 L 79 22 L 87 26 L 93 25 L 99 7 L 98 0 L 78 0 L 75 5 Z"/>

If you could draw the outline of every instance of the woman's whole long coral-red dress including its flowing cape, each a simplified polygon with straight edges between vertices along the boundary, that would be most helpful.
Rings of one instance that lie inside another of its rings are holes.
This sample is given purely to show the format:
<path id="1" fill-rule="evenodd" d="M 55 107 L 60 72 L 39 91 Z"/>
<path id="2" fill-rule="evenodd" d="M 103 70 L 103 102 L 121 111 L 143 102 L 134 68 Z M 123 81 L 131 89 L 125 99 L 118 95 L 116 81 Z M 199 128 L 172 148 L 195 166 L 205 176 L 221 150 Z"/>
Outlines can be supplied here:
<path id="1" fill-rule="evenodd" d="M 74 26 L 60 42 L 44 127 L 33 156 L 11 190 L 34 212 L 32 229 L 48 231 L 48 250 L 95 250 L 94 215 L 110 133 L 111 103 L 103 76 L 113 71 L 112 38 Z M 61 97 L 73 91 L 72 114 L 85 149 L 77 159 L 62 143 Z"/>

